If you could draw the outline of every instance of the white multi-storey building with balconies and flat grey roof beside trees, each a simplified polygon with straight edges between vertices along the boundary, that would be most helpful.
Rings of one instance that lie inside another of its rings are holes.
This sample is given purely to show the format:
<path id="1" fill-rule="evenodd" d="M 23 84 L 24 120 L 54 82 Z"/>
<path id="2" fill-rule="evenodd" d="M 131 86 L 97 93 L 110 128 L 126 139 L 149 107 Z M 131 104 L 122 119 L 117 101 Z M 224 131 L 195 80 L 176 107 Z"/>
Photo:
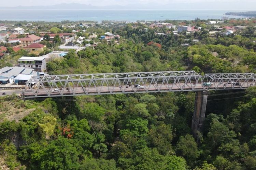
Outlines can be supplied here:
<path id="1" fill-rule="evenodd" d="M 46 71 L 46 56 L 40 57 L 21 57 L 18 59 L 18 66 L 31 68 L 35 71 L 45 72 Z"/>

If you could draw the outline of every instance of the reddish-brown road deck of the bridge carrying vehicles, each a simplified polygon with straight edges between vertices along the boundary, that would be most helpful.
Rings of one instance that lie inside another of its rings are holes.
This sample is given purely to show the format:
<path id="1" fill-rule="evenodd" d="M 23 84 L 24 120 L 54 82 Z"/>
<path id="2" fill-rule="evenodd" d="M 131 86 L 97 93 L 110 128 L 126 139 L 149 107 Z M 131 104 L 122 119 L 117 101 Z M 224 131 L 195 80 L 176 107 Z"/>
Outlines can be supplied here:
<path id="1" fill-rule="evenodd" d="M 79 96 L 79 95 L 104 95 L 104 94 L 120 94 L 120 93 L 143 93 L 143 92 L 167 92 L 167 91 L 199 91 L 199 90 L 225 90 L 225 89 L 244 89 L 250 86 L 256 86 L 256 82 L 240 82 L 240 85 L 212 83 L 210 87 L 203 86 L 202 83 L 197 84 L 159 84 L 144 85 L 143 89 L 131 86 L 99 86 L 99 87 L 71 87 L 70 91 L 65 89 L 60 92 L 52 92 L 55 88 L 27 89 L 25 98 L 34 97 L 59 97 L 59 96 Z M 126 88 L 127 87 L 127 88 Z M 182 88 L 182 89 L 181 89 Z M 193 89 L 194 88 L 194 89 Z M 171 89 L 171 90 L 170 90 Z M 22 92 L 22 91 L 20 91 Z M 11 93 L 11 92 L 10 92 Z"/>

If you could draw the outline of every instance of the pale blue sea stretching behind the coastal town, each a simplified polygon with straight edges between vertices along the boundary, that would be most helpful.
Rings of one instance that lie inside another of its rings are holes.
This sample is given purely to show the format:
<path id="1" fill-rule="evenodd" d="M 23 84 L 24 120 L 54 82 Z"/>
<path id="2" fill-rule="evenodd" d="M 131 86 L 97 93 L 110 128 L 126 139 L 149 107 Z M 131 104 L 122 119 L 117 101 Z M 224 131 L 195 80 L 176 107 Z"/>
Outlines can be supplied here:
<path id="1" fill-rule="evenodd" d="M 246 11 L 246 10 L 244 10 Z M 0 20 L 13 21 L 155 21 L 221 19 L 232 10 L 81 10 L 81 9 L 1 9 Z M 241 18 L 229 16 L 229 18 Z"/>

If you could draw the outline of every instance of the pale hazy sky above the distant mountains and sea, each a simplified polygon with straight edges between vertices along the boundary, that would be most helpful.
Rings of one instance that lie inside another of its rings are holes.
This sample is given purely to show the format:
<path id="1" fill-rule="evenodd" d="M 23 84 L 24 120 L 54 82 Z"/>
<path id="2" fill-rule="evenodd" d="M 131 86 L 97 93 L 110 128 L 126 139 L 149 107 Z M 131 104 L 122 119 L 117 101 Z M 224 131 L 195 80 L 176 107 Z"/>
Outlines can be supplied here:
<path id="1" fill-rule="evenodd" d="M 198 3 L 205 6 L 209 3 L 216 3 L 220 6 L 222 3 L 228 4 L 228 8 L 239 7 L 241 4 L 243 8 L 255 8 L 256 11 L 256 0 L 11 0 L 2 1 L 0 6 L 34 6 L 34 5 L 55 5 L 61 3 L 81 3 L 91 4 L 94 6 L 109 6 L 109 5 L 129 5 L 129 4 L 146 4 L 147 6 L 154 7 L 155 3 L 166 5 L 166 4 L 190 4 Z"/>

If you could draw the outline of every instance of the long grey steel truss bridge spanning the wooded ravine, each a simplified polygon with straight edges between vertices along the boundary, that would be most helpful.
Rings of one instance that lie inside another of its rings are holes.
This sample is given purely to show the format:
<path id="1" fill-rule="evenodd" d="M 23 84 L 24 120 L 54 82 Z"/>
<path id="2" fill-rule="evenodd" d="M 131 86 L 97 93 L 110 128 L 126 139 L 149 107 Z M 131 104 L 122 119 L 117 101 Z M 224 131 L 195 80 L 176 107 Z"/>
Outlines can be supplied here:
<path id="1" fill-rule="evenodd" d="M 159 71 L 47 75 L 35 76 L 28 80 L 23 97 L 45 98 L 122 93 L 227 90 L 245 89 L 255 85 L 256 74 L 254 73 L 205 74 L 202 76 L 195 71 Z M 53 91 L 54 89 L 58 90 Z"/>

